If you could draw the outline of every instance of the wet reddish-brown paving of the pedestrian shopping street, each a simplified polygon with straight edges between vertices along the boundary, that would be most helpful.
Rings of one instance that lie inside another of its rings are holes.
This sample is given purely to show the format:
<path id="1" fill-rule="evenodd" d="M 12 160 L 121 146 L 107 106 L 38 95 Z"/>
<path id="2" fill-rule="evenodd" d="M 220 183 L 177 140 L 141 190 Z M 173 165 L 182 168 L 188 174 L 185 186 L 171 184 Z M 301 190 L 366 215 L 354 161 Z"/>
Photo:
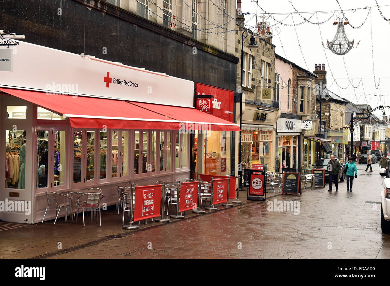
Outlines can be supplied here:
<path id="1" fill-rule="evenodd" d="M 327 186 L 304 189 L 301 196 L 249 202 L 135 232 L 122 230 L 117 223 L 105 223 L 111 216 L 115 220 L 113 212 L 102 216 L 101 228 L 89 223 L 85 228 L 80 223 L 65 225 L 62 219 L 55 226 L 47 222 L 0 232 L 0 257 L 31 258 L 51 253 L 51 259 L 389 258 L 390 240 L 380 228 L 383 177 L 379 176 L 379 166 L 373 165 L 372 173 L 364 171 L 366 166 L 358 165 L 352 193 L 347 193 L 346 183 L 340 182 L 337 192 L 334 188 L 328 192 Z M 245 197 L 244 192 L 240 196 Z M 295 202 L 295 207 L 299 203 L 299 209 L 280 212 L 277 207 L 271 208 L 275 199 Z M 114 234 L 125 236 L 107 237 Z M 96 240 L 93 245 L 88 244 L 92 240 Z M 58 242 L 62 242 L 62 252 L 69 252 L 58 254 Z"/>

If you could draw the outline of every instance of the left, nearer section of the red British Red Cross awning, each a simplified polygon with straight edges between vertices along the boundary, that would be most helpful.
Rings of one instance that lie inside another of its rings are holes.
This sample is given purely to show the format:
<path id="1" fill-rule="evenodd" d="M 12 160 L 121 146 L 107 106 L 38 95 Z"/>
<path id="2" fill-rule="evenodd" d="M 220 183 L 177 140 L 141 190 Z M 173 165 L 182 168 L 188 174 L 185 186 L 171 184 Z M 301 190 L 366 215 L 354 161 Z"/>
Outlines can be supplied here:
<path id="1" fill-rule="evenodd" d="M 74 128 L 179 129 L 177 120 L 145 110 L 122 100 L 72 95 L 46 94 L 39 91 L 0 88 L 1 91 L 27 100 L 68 117 Z"/>

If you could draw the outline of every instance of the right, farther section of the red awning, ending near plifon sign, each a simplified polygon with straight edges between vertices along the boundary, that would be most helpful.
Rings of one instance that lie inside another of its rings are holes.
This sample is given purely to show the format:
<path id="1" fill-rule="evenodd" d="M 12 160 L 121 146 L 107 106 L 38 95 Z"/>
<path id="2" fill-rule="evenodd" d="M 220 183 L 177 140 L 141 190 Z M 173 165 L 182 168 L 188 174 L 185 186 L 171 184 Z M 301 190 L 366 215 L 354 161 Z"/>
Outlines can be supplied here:
<path id="1" fill-rule="evenodd" d="M 160 105 L 141 102 L 129 102 L 133 105 L 143 107 L 147 110 L 157 112 L 169 118 L 174 118 L 183 123 L 186 130 L 224 130 L 239 131 L 240 126 L 227 120 L 218 118 L 211 114 L 199 111 L 190 107 L 177 107 L 171 105 Z M 191 125 L 192 124 L 192 125 Z"/>

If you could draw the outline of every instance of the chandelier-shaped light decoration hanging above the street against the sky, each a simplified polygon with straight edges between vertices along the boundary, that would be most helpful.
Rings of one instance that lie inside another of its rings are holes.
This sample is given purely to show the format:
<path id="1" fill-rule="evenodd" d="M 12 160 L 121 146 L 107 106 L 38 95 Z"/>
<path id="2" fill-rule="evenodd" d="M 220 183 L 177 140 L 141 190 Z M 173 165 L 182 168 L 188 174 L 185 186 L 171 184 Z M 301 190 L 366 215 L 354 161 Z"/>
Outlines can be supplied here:
<path id="1" fill-rule="evenodd" d="M 348 40 L 347 35 L 344 32 L 344 25 L 348 25 L 348 24 L 349 21 L 346 21 L 344 17 L 343 18 L 337 17 L 335 19 L 333 25 L 337 25 L 337 32 L 332 41 L 329 42 L 329 40 L 326 39 L 326 42 L 328 42 L 328 44 L 326 44 L 325 49 L 328 48 L 330 49 L 330 51 L 332 51 L 335 54 L 343 55 L 348 53 L 352 48 L 355 49 L 358 47 L 360 41 L 358 42 L 356 47 L 354 47 L 353 46 L 354 40 L 352 40 L 352 42 Z M 324 43 L 322 43 L 322 45 L 324 46 Z"/>

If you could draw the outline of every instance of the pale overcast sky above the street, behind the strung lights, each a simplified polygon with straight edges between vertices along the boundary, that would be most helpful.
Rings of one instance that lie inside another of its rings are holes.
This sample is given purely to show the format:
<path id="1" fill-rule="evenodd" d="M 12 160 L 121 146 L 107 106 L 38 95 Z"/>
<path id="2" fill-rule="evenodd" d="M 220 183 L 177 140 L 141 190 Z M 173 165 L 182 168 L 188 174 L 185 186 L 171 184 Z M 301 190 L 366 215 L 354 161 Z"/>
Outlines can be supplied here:
<path id="1" fill-rule="evenodd" d="M 288 16 L 290 12 L 296 12 L 289 0 L 273 0 L 273 1 L 256 1 L 243 0 L 242 10 L 244 13 L 249 12 L 249 15 L 245 15 L 246 26 L 255 26 L 255 14 L 257 7 L 257 21 L 260 21 L 259 17 L 264 14 L 270 25 L 273 28 L 272 43 L 275 44 L 276 53 L 293 61 L 297 65 L 314 71 L 314 65 L 317 63 L 324 63 L 325 70 L 327 71 L 327 87 L 340 95 L 341 97 L 347 98 L 356 104 L 370 104 L 374 109 L 378 105 L 389 105 L 390 106 L 390 87 L 387 84 L 390 81 L 390 58 L 388 56 L 389 50 L 389 32 L 390 25 L 389 21 L 385 21 L 379 14 L 378 7 L 376 6 L 375 0 L 339 0 L 341 8 L 343 9 L 346 17 L 348 18 L 351 25 L 358 27 L 364 22 L 367 13 L 370 9 L 360 9 L 364 7 L 371 7 L 371 15 L 368 14 L 367 20 L 361 28 L 353 29 L 351 26 L 344 26 L 346 35 L 350 41 L 355 39 L 354 46 L 360 40 L 360 44 L 356 49 L 351 49 L 346 55 L 344 60 L 346 68 L 344 66 L 343 56 L 333 54 L 330 50 L 324 51 L 321 41 L 326 44 L 326 39 L 331 41 L 337 32 L 337 25 L 333 26 L 332 23 L 335 18 L 341 14 L 339 5 L 336 0 L 327 0 L 322 2 L 311 1 L 311 0 L 290 0 L 294 7 L 301 12 L 301 15 L 306 19 L 310 18 L 310 21 L 317 23 L 317 15 L 319 22 L 323 22 L 330 18 L 333 12 L 320 12 L 320 11 L 338 11 L 336 12 L 326 23 L 321 25 L 314 25 L 310 23 L 303 23 L 295 26 L 285 26 L 278 24 L 275 26 L 275 20 L 270 16 L 267 16 L 264 9 L 268 13 L 286 13 L 286 14 L 273 14 L 272 16 L 278 21 L 283 20 Z M 388 0 L 377 0 L 378 5 L 382 11 L 382 14 L 389 19 L 390 18 L 390 1 Z M 326 4 L 326 5 L 325 5 Z M 381 5 L 388 5 L 381 7 Z M 350 11 L 356 9 L 355 12 Z M 349 11 L 348 11 L 349 10 Z M 313 11 L 318 11 L 317 15 Z M 311 12 L 311 13 L 303 13 Z M 371 22 L 372 16 L 372 22 Z M 299 14 L 293 14 L 287 19 L 282 21 L 285 24 L 295 24 L 305 21 Z M 371 42 L 371 23 L 372 23 L 372 42 Z M 320 30 L 322 39 L 320 36 Z M 278 33 L 278 35 L 276 35 Z M 298 35 L 298 37 L 296 36 Z M 302 49 L 299 47 L 298 40 Z M 282 43 L 282 44 L 281 44 Z M 374 72 L 373 72 L 373 61 L 371 53 L 371 43 L 373 44 L 374 51 L 374 68 L 375 68 L 375 79 L 376 85 L 380 79 L 380 89 L 376 89 L 374 84 Z M 282 48 L 283 46 L 283 48 Z M 326 60 L 326 56 L 328 61 Z M 331 72 L 332 71 L 332 72 Z M 333 73 L 333 75 L 332 75 Z M 360 85 L 357 88 L 353 88 L 351 85 L 346 88 L 349 84 L 349 79 L 353 79 L 354 86 Z M 334 81 L 337 81 L 337 83 Z M 338 86 L 338 85 L 340 86 Z M 343 89 L 346 88 L 346 89 Z M 379 92 L 380 90 L 380 92 Z M 356 96 L 355 96 L 356 92 Z M 364 94 L 366 96 L 364 96 Z M 385 95 L 385 96 L 372 96 L 372 95 Z M 390 113 L 390 109 L 385 109 L 386 114 Z M 375 114 L 381 118 L 383 112 L 376 112 Z"/>

